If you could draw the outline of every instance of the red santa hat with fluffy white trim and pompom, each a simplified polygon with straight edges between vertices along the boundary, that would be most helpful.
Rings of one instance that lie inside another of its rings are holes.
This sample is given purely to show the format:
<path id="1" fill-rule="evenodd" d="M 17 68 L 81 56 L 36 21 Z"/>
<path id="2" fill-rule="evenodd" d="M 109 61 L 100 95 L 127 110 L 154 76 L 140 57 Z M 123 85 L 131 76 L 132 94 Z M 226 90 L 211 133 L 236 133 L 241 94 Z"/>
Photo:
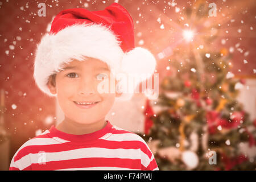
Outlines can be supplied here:
<path id="1" fill-rule="evenodd" d="M 156 65 L 150 51 L 134 46 L 133 20 L 118 3 L 101 11 L 76 8 L 57 14 L 49 34 L 44 35 L 37 45 L 36 85 L 48 96 L 56 96 L 47 87 L 49 76 L 61 71 L 63 65 L 73 59 L 85 60 L 84 56 L 104 61 L 115 74 L 148 75 L 144 80 L 154 73 Z M 129 100 L 131 96 L 122 94 L 119 99 Z"/>

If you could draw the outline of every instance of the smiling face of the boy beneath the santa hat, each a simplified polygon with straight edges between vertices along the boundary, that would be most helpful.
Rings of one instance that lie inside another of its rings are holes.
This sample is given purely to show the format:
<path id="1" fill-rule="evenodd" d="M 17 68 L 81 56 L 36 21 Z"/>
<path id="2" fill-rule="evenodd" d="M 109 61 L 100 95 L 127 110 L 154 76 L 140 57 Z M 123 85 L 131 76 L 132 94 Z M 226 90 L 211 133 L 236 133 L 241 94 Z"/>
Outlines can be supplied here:
<path id="1" fill-rule="evenodd" d="M 51 84 L 51 78 L 47 86 L 51 93 L 57 93 L 57 100 L 65 114 L 65 119 L 89 124 L 105 119 L 115 96 L 119 96 L 110 91 L 98 92 L 98 84 L 102 82 L 102 77 L 106 79 L 106 76 L 109 79 L 109 88 L 111 84 L 116 84 L 115 80 L 113 83 L 110 81 L 110 76 L 113 75 L 106 63 L 88 57 L 85 61 L 73 60 L 66 64 L 64 71 L 56 74 L 55 86 Z M 83 108 L 84 106 L 75 102 L 97 102 L 97 104 Z"/>

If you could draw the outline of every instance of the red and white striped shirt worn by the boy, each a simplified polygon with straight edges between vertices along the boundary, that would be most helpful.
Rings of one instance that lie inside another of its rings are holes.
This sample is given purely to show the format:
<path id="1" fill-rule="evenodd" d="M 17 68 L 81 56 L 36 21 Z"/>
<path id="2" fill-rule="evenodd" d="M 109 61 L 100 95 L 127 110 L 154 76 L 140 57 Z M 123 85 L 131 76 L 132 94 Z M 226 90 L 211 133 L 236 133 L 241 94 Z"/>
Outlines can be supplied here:
<path id="1" fill-rule="evenodd" d="M 11 160 L 10 170 L 159 170 L 154 155 L 137 134 L 107 125 L 73 135 L 54 125 L 28 140 Z"/>

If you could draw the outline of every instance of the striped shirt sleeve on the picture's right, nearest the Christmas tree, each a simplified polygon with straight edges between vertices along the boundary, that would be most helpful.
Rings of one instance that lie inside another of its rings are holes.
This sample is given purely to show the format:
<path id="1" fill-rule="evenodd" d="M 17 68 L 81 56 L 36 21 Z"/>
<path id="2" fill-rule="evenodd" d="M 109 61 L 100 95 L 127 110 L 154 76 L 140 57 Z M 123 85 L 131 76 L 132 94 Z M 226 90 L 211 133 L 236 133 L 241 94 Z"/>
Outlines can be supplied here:
<path id="1" fill-rule="evenodd" d="M 147 143 L 144 142 L 141 146 L 141 169 L 143 171 L 158 171 L 158 164 L 156 163 L 155 157 L 151 152 Z"/>

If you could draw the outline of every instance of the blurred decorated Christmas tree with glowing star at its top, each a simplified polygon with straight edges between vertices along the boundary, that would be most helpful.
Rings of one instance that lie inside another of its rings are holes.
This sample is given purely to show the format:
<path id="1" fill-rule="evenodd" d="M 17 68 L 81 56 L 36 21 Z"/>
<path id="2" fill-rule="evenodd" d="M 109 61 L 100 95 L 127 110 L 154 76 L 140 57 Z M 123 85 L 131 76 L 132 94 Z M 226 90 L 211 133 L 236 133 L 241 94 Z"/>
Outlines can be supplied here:
<path id="1" fill-rule="evenodd" d="M 199 3 L 187 7 L 186 18 L 196 26 L 208 16 Z M 209 17 L 209 16 L 208 16 Z M 177 20 L 176 22 L 179 22 Z M 225 48 L 210 48 L 220 27 L 209 34 L 183 32 L 180 44 L 165 57 L 172 74 L 160 83 L 157 100 L 147 100 L 145 130 L 141 137 L 153 152 L 160 170 L 255 170 L 256 158 L 240 150 L 255 145 L 255 121 L 236 98 L 245 81 L 234 77 L 232 55 Z M 204 30 L 207 32 L 207 30 Z M 200 39 L 196 42 L 196 39 Z"/>

